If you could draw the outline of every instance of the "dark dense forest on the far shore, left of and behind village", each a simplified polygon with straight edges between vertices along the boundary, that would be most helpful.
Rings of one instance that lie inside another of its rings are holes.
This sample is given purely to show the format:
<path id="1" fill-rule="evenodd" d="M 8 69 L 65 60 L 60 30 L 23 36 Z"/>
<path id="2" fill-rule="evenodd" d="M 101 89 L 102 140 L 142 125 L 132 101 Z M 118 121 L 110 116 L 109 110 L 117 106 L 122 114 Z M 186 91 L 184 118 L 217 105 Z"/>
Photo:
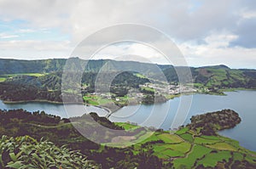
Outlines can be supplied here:
<path id="1" fill-rule="evenodd" d="M 108 72 L 102 76 L 109 77 L 112 75 L 115 74 Z M 87 87 L 85 88 L 80 87 L 79 83 L 74 84 L 74 79 L 78 79 L 79 76 L 73 72 L 65 74 L 65 82 L 62 88 L 61 72 L 49 73 L 45 76 L 14 76 L 8 78 L 5 82 L 0 82 L 0 98 L 4 101 L 48 100 L 61 102 L 61 94 L 65 94 L 66 101 L 79 102 L 79 100 L 74 100 L 73 98 L 76 97 L 72 95 L 96 92 L 97 76 L 96 72 L 84 72 L 81 83 L 86 84 Z M 122 72 L 114 77 L 113 82 L 109 82 L 110 86 L 107 85 L 108 82 L 105 82 L 105 79 L 103 82 L 98 82 L 97 92 L 111 92 L 118 97 L 123 97 L 131 87 L 139 87 L 140 84 L 145 82 L 148 82 L 148 79 L 134 76 L 132 72 Z"/>

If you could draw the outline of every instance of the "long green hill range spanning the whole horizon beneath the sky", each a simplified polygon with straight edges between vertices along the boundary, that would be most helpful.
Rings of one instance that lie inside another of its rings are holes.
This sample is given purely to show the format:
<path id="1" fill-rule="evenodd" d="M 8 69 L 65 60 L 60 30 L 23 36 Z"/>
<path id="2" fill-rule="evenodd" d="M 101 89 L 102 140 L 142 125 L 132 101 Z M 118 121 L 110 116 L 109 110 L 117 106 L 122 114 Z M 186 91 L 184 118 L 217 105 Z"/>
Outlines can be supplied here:
<path id="1" fill-rule="evenodd" d="M 109 59 L 82 60 L 73 58 L 74 66 L 86 64 L 84 71 L 90 76 L 84 77 L 84 82 L 92 83 L 97 73 L 105 70 L 138 72 L 149 79 L 163 81 L 163 74 L 168 82 L 178 83 L 177 71 L 181 76 L 189 76 L 188 67 L 173 65 L 156 65 L 135 61 L 116 61 Z M 0 59 L 0 79 L 9 84 L 32 85 L 41 88 L 58 89 L 61 87 L 61 72 L 67 59 Z M 71 68 L 72 69 L 72 68 Z M 189 67 L 195 85 L 207 88 L 246 87 L 256 88 L 256 70 L 230 69 L 226 65 L 211 65 L 203 67 Z M 104 72 L 105 72 L 104 71 Z M 32 76 L 31 73 L 40 73 L 45 76 Z M 12 74 L 28 74 L 26 76 L 11 76 Z M 135 79 L 133 76 L 131 78 Z M 139 84 L 141 84 L 139 82 Z"/>

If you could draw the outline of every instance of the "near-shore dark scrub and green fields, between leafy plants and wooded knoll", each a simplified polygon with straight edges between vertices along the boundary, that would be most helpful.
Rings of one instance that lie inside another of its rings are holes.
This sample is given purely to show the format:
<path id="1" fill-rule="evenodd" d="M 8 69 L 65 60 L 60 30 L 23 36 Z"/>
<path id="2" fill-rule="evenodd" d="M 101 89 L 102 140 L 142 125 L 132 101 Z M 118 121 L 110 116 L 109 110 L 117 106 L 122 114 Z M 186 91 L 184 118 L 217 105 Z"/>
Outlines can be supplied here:
<path id="1" fill-rule="evenodd" d="M 236 140 L 218 134 L 206 136 L 189 127 L 181 127 L 174 133 L 162 130 L 152 132 L 146 127 L 125 122 L 113 123 L 96 113 L 90 114 L 90 117 L 101 126 L 118 131 L 119 135 L 116 135 L 115 132 L 97 128 L 88 121 L 88 117 L 89 115 L 83 115 L 61 119 L 44 112 L 1 110 L 0 132 L 9 137 L 29 135 L 35 138 L 38 144 L 41 144 L 40 140 L 43 136 L 58 147 L 67 144 L 68 149 L 79 149 L 88 160 L 95 161 L 102 168 L 200 168 L 219 165 L 224 165 L 225 168 L 234 165 L 247 168 L 256 165 L 255 152 L 242 148 Z M 70 121 L 73 121 L 76 127 L 81 127 L 79 130 L 86 128 L 100 132 L 96 139 L 105 140 L 105 144 L 95 144 L 84 138 Z M 116 143 L 117 140 L 119 143 Z M 105 145 L 119 145 L 123 148 L 111 148 Z M 73 150 L 68 151 L 73 152 Z M 46 153 L 44 155 L 48 155 Z"/>

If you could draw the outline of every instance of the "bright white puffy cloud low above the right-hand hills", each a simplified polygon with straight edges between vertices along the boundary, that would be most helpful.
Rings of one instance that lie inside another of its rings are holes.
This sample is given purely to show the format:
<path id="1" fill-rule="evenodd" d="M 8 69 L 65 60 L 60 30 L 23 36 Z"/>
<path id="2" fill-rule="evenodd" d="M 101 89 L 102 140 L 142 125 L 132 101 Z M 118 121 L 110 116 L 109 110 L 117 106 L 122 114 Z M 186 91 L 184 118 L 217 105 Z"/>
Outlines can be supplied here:
<path id="1" fill-rule="evenodd" d="M 205 38 L 207 43 L 195 45 L 192 42 L 184 42 L 178 47 L 189 65 L 228 65 L 232 68 L 254 69 L 256 48 L 230 48 L 230 42 L 236 38 L 232 34 L 212 34 Z"/>

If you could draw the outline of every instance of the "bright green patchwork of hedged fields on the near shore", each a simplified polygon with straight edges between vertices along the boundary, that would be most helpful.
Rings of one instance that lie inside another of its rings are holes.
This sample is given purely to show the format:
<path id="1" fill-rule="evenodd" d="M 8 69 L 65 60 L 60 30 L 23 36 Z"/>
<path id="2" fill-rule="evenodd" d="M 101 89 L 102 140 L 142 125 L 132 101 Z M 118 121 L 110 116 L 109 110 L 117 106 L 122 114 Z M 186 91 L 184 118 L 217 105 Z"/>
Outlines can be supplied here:
<path id="1" fill-rule="evenodd" d="M 125 130 L 133 130 L 137 126 L 117 122 Z M 144 139 L 148 134 L 150 137 Z M 141 140 L 141 141 L 140 141 Z M 133 153 L 140 149 L 153 148 L 154 155 L 163 161 L 172 161 L 173 168 L 199 168 L 215 166 L 234 166 L 236 161 L 249 161 L 256 165 L 256 153 L 241 147 L 238 141 L 223 136 L 206 136 L 183 127 L 176 132 L 165 131 L 144 132 L 136 139 L 123 142 L 124 146 L 133 143 Z"/>

